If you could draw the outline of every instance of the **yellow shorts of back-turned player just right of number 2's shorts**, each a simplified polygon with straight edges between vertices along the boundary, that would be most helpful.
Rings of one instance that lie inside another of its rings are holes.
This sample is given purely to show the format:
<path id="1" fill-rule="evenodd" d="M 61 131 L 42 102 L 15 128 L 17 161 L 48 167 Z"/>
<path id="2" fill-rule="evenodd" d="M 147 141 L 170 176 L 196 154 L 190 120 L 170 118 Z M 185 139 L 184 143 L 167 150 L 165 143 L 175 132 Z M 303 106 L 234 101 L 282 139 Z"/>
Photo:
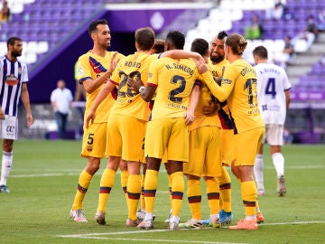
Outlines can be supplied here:
<path id="1" fill-rule="evenodd" d="M 221 175 L 220 128 L 199 127 L 190 131 L 190 160 L 184 174 L 217 177 Z"/>

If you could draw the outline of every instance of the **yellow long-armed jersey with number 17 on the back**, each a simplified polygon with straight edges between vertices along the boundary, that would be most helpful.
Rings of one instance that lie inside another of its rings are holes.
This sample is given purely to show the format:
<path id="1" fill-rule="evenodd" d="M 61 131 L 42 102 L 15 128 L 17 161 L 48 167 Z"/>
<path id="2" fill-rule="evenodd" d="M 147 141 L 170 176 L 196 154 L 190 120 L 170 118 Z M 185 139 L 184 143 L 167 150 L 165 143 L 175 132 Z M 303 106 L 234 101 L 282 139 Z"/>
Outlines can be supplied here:
<path id="1" fill-rule="evenodd" d="M 230 63 L 221 87 L 215 85 L 209 72 L 202 77 L 218 100 L 227 99 L 235 134 L 265 126 L 257 104 L 255 69 L 247 61 L 238 59 Z"/>

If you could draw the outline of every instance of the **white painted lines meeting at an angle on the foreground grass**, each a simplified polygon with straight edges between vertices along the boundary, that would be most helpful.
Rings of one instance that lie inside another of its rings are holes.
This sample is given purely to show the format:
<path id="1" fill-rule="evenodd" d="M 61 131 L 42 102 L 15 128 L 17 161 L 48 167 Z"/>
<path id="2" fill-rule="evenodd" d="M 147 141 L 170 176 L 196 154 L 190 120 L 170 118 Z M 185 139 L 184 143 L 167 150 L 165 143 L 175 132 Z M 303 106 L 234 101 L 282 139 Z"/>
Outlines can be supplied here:
<path id="1" fill-rule="evenodd" d="M 260 226 L 273 226 L 273 225 L 298 225 L 298 224 L 323 224 L 325 221 L 296 221 L 296 222 L 279 222 L 279 223 L 263 223 Z M 221 228 L 228 228 L 228 226 L 223 226 Z M 208 228 L 207 228 L 208 229 Z M 203 229 L 204 230 L 204 229 Z M 154 242 L 173 242 L 173 243 L 202 243 L 202 244 L 243 244 L 235 242 L 212 242 L 212 241 L 196 241 L 196 240 L 182 240 L 182 239 L 126 239 L 126 238 L 108 238 L 103 236 L 111 235 L 135 235 L 143 233 L 153 233 L 153 232 L 165 232 L 171 230 L 139 230 L 139 231 L 119 231 L 119 232 L 107 232 L 107 233 L 88 233 L 88 234 L 76 234 L 76 235 L 58 235 L 61 238 L 79 238 L 79 239 L 115 239 L 115 240 L 129 240 L 129 241 L 154 241 Z M 181 230 L 188 231 L 188 230 Z M 190 230 L 193 231 L 193 230 Z M 196 231 L 196 230 L 194 230 Z M 200 231 L 200 230 L 197 230 Z"/>

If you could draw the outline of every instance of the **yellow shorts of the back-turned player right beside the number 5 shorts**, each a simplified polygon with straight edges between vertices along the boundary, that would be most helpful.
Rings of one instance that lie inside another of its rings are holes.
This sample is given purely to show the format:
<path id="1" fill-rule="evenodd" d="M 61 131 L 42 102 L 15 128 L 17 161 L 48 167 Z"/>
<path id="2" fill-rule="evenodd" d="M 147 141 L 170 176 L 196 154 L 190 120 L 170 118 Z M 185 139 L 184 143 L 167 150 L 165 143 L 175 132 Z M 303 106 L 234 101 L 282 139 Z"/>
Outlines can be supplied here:
<path id="1" fill-rule="evenodd" d="M 144 120 L 111 114 L 107 122 L 107 156 L 143 162 L 145 127 Z"/>

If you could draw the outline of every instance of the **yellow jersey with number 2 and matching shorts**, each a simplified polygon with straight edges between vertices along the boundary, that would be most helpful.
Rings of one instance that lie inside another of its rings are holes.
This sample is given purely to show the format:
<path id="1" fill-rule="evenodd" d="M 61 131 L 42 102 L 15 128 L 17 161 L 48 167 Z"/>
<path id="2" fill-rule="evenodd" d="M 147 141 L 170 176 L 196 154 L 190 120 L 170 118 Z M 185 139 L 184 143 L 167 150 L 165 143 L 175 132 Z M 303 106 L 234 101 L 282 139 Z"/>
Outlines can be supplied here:
<path id="1" fill-rule="evenodd" d="M 189 160 L 189 135 L 184 116 L 198 77 L 194 61 L 171 58 L 153 61 L 147 85 L 157 86 L 157 89 L 152 120 L 145 134 L 145 156 L 162 158 L 166 149 L 168 160 Z M 163 136 L 162 141 L 157 140 L 157 136 Z"/>

